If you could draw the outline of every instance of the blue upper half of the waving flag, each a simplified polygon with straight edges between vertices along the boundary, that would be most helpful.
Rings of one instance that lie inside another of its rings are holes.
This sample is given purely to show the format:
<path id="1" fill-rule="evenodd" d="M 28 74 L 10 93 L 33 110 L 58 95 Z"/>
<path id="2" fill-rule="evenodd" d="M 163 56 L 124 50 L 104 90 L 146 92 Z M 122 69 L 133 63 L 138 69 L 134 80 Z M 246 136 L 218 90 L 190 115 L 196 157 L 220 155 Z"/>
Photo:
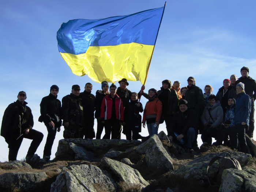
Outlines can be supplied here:
<path id="1" fill-rule="evenodd" d="M 89 46 L 154 45 L 164 7 L 106 19 L 74 19 L 57 32 L 59 52 L 82 54 Z"/>

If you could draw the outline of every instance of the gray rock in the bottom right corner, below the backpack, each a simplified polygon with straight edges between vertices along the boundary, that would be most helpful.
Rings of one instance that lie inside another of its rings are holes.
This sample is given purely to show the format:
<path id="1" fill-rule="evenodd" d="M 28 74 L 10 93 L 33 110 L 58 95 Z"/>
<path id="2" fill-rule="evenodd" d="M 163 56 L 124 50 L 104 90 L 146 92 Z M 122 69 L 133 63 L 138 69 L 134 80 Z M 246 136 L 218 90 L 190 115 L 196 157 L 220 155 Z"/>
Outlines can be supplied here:
<path id="1" fill-rule="evenodd" d="M 219 192 L 256 191 L 256 170 L 225 169 Z"/>

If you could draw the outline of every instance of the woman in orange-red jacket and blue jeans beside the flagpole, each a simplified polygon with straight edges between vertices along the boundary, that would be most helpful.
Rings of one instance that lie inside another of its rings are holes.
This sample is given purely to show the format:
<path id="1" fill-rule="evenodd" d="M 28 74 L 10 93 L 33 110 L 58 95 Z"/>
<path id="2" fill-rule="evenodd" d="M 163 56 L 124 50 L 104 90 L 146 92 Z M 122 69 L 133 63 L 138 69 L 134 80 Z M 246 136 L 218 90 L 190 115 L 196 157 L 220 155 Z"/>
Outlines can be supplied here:
<path id="1" fill-rule="evenodd" d="M 158 126 L 162 114 L 162 102 L 157 98 L 157 90 L 148 90 L 148 102 L 143 113 L 143 127 L 147 123 L 149 136 L 158 134 Z"/>

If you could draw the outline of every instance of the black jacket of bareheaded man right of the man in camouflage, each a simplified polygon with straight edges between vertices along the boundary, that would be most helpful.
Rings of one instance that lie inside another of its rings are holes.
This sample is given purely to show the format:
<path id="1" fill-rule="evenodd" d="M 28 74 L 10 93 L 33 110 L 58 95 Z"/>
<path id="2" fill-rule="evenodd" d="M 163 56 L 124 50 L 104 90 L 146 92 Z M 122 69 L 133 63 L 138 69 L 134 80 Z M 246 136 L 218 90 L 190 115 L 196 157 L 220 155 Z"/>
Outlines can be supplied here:
<path id="1" fill-rule="evenodd" d="M 90 92 L 84 90 L 79 97 L 82 99 L 83 116 L 84 118 L 94 118 L 95 111 L 95 96 Z"/>

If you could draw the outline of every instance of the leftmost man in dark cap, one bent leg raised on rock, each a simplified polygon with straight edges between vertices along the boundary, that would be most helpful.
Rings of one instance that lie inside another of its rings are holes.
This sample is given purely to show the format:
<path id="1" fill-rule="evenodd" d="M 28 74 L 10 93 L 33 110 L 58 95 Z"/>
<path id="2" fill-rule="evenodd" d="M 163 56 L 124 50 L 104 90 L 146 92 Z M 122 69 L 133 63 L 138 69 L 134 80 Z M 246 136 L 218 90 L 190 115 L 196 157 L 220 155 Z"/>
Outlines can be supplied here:
<path id="1" fill-rule="evenodd" d="M 33 140 L 26 155 L 26 162 L 30 162 L 44 135 L 32 129 L 34 120 L 31 109 L 26 106 L 27 102 L 25 100 L 27 99 L 27 95 L 25 91 L 20 91 L 17 97 L 18 100 L 8 105 L 5 109 L 1 126 L 1 136 L 8 143 L 9 161 L 16 160 L 23 138 Z"/>

